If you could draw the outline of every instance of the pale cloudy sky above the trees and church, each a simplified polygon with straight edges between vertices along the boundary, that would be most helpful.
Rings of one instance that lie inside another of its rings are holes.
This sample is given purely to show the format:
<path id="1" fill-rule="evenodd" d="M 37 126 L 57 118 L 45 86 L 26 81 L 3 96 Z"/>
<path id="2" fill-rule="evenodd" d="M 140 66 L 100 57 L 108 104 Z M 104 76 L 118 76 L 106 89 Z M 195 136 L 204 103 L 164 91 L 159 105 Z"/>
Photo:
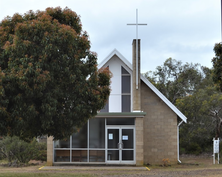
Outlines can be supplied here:
<path id="1" fill-rule="evenodd" d="M 47 7 L 75 11 L 98 63 L 117 49 L 132 61 L 136 9 L 141 39 L 141 72 L 155 71 L 168 58 L 212 68 L 215 43 L 221 42 L 221 0 L 0 0 L 0 21 L 14 13 Z"/>

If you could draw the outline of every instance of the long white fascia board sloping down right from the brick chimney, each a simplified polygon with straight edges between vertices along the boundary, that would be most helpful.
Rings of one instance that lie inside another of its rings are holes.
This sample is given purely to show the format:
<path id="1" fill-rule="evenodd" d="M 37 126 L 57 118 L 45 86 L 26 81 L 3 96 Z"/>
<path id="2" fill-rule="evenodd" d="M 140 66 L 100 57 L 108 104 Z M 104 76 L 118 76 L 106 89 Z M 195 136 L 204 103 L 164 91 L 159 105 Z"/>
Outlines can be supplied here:
<path id="1" fill-rule="evenodd" d="M 166 103 L 185 123 L 187 123 L 187 117 L 177 109 L 148 79 L 140 74 L 142 81 L 157 95 L 164 103 Z"/>

